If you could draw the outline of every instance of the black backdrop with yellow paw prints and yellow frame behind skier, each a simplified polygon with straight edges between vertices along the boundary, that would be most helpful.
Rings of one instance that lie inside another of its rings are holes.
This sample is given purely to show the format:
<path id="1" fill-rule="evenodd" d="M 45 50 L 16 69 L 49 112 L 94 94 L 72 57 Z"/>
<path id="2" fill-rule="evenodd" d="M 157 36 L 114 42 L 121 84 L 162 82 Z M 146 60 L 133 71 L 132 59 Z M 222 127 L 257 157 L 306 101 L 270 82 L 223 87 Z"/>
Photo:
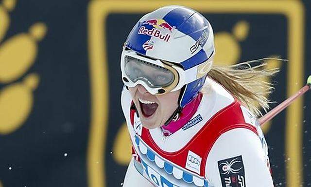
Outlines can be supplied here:
<path id="1" fill-rule="evenodd" d="M 274 107 L 311 74 L 309 0 L 0 0 L 0 187 L 119 187 L 130 160 L 120 54 L 168 4 L 211 22 L 215 64 L 280 68 Z M 311 94 L 263 130 L 276 187 L 311 186 Z"/>

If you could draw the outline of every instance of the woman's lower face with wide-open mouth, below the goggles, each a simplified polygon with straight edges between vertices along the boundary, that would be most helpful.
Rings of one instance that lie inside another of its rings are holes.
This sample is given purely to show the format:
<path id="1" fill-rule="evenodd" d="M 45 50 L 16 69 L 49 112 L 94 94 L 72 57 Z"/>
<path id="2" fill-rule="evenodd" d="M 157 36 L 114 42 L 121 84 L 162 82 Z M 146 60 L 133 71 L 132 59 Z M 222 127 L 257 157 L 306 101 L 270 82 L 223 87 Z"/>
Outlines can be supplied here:
<path id="1" fill-rule="evenodd" d="M 180 90 L 162 95 L 149 93 L 142 85 L 129 88 L 140 121 L 147 129 L 155 129 L 164 125 L 177 109 Z"/>

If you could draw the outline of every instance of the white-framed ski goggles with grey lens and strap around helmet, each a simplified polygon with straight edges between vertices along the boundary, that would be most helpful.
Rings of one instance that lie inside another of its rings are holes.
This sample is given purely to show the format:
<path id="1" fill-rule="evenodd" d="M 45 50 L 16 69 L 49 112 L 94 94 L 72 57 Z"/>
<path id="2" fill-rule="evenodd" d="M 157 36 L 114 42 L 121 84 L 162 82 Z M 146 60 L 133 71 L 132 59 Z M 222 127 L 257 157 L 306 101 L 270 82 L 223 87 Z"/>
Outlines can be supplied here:
<path id="1" fill-rule="evenodd" d="M 134 51 L 123 51 L 121 55 L 122 81 L 128 87 L 140 84 L 151 94 L 164 94 L 177 91 L 185 84 L 206 75 L 211 64 L 212 60 L 207 60 L 199 66 L 183 70 L 167 61 L 147 58 Z"/>

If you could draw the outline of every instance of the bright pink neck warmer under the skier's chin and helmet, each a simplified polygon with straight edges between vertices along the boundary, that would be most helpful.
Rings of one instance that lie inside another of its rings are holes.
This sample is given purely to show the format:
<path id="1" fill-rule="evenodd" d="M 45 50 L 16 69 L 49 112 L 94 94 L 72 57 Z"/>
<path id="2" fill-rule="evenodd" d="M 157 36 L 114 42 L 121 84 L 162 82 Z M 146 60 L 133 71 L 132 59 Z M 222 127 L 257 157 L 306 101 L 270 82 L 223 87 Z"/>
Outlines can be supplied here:
<path id="1" fill-rule="evenodd" d="M 190 103 L 188 103 L 181 111 L 176 121 L 171 121 L 168 125 L 162 126 L 163 134 L 169 136 L 181 129 L 197 111 L 202 99 L 202 93 L 199 93 Z"/>

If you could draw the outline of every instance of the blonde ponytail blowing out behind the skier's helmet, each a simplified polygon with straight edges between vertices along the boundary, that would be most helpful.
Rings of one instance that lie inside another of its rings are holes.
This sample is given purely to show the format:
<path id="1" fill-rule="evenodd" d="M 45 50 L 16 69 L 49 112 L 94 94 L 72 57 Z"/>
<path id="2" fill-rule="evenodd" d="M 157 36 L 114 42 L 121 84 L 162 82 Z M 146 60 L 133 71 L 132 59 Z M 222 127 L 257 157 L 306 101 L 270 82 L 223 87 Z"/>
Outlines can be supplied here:
<path id="1" fill-rule="evenodd" d="M 267 59 L 286 61 L 278 58 L 262 58 L 231 66 L 213 66 L 207 75 L 223 85 L 243 106 L 255 115 L 261 116 L 261 109 L 265 112 L 269 109 L 271 102 L 268 96 L 274 90 L 274 85 L 263 79 L 279 71 L 278 68 L 267 69 L 267 63 L 263 62 Z"/>

